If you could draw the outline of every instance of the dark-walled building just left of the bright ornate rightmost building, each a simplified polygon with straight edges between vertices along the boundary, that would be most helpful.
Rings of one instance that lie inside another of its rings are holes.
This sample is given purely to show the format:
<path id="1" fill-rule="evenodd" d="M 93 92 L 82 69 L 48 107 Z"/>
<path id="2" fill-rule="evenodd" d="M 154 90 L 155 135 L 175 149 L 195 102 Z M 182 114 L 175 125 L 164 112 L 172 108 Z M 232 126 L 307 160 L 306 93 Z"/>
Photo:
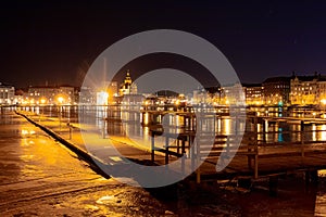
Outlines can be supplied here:
<path id="1" fill-rule="evenodd" d="M 272 77 L 263 84 L 264 100 L 266 105 L 286 105 L 290 103 L 291 77 Z"/>

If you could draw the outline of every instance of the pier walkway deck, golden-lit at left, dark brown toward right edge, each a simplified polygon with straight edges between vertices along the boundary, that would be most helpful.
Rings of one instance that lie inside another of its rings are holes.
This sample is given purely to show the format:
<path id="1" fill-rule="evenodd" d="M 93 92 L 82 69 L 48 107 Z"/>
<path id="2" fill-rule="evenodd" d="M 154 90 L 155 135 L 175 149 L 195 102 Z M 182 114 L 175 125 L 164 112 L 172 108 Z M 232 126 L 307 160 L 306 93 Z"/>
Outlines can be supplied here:
<path id="1" fill-rule="evenodd" d="M 311 142 L 303 139 L 301 142 L 266 144 L 258 142 L 258 132 L 254 132 L 244 135 L 239 149 L 234 146 L 231 136 L 221 136 L 215 138 L 213 148 L 208 150 L 204 146 L 197 146 L 193 143 L 193 132 L 189 131 L 177 136 L 165 133 L 166 143 L 159 148 L 155 145 L 155 140 L 161 137 L 160 131 L 152 130 L 150 133 L 154 139 L 152 139 L 151 145 L 139 146 L 125 137 L 109 137 L 105 132 L 103 135 L 83 128 L 84 137 L 88 135 L 97 138 L 97 146 L 86 148 L 80 133 L 80 126 L 76 119 L 70 118 L 67 123 L 67 119 L 64 118 L 59 120 L 55 117 L 23 111 L 20 111 L 18 114 L 24 115 L 36 125 L 50 129 L 57 135 L 55 137 L 77 146 L 82 152 L 93 156 L 106 166 L 128 164 L 124 157 L 147 166 L 168 165 L 168 163 L 185 156 L 180 167 L 178 167 L 180 169 L 175 171 L 188 173 L 189 169 L 191 170 L 201 164 L 188 177 L 197 182 L 237 178 L 274 178 L 298 171 L 305 171 L 308 180 L 310 180 L 314 178 L 316 170 L 326 169 L 326 142 Z M 170 142 L 168 137 L 175 139 Z M 108 149 L 112 149 L 105 145 L 108 140 L 124 157 L 114 155 L 114 152 L 108 156 L 110 152 Z M 206 154 L 208 156 L 205 156 Z M 234 154 L 233 158 L 228 158 Z M 225 157 L 225 163 L 230 162 L 222 171 L 216 171 L 216 164 L 222 156 Z"/>

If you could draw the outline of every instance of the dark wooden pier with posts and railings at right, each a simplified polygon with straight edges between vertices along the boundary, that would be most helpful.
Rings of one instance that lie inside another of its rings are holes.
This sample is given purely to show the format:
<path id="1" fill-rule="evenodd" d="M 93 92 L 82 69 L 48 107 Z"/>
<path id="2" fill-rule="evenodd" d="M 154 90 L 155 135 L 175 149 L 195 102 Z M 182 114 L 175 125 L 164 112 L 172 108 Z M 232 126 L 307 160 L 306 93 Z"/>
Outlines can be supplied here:
<path id="1" fill-rule="evenodd" d="M 198 138 L 204 141 L 205 135 L 196 133 L 197 125 L 200 125 L 200 123 L 197 122 L 193 111 L 137 112 L 118 106 L 115 108 L 101 118 L 101 122 L 105 123 L 103 125 L 103 135 L 124 137 L 123 125 L 126 124 L 138 123 L 139 128 L 148 127 L 151 136 L 149 159 L 153 163 L 168 166 L 170 163 L 183 158 L 179 173 L 186 173 L 187 169 L 193 171 L 189 179 L 198 183 L 224 179 L 249 179 L 254 181 L 267 178 L 271 182 L 271 189 L 275 189 L 279 176 L 304 173 L 305 180 L 309 182 L 316 179 L 317 170 L 326 169 L 326 140 L 310 140 L 304 136 L 305 133 L 324 131 L 326 133 L 326 129 L 309 129 L 309 126 L 312 125 L 326 125 L 326 119 L 324 118 L 271 117 L 247 113 L 246 122 L 249 122 L 247 124 L 251 125 L 251 130 L 246 128 L 243 137 L 239 137 L 237 133 L 223 135 L 218 132 L 214 135 L 213 143 L 210 145 L 204 142 L 195 142 Z M 59 110 L 52 111 L 58 113 Z M 122 113 L 133 114 L 135 119 L 127 119 L 128 122 L 126 122 L 121 116 Z M 149 115 L 150 122 L 148 123 L 145 123 L 145 113 Z M 162 123 L 158 122 L 156 118 L 160 116 L 159 119 L 162 122 L 164 115 L 181 117 L 183 126 L 162 126 Z M 65 117 L 64 114 L 61 116 Z M 216 116 L 221 119 L 230 118 L 225 111 L 217 113 Z M 216 124 L 215 120 L 214 125 Z M 279 123 L 298 125 L 297 130 L 285 129 L 281 133 L 296 133 L 299 139 L 290 142 L 268 142 L 266 140 L 268 135 L 280 133 L 280 131 L 265 130 L 266 125 Z M 261 131 L 258 130 L 258 125 L 262 126 Z M 181 130 L 178 130 L 179 132 L 171 132 L 165 129 L 168 127 Z M 159 137 L 163 137 L 165 141 L 163 146 L 156 144 Z M 240 145 L 238 146 L 237 143 L 240 143 Z M 163 153 L 164 161 L 162 161 L 162 157 L 158 157 L 160 161 L 156 161 L 159 153 L 160 156 Z M 217 168 L 223 167 L 223 169 L 217 171 L 216 165 Z"/>

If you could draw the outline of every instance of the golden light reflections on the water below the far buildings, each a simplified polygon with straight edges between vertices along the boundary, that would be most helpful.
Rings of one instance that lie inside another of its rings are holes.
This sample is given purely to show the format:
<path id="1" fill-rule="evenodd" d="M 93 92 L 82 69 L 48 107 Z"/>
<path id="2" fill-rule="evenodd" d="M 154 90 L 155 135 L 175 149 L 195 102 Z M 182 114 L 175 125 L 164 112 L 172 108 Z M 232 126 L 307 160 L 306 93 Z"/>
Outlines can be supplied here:
<path id="1" fill-rule="evenodd" d="M 80 108 L 82 107 L 82 108 Z M 25 110 L 35 112 L 39 115 L 58 117 L 60 111 L 62 112 L 61 118 L 64 118 L 65 122 L 77 122 L 78 112 L 83 112 L 87 115 L 82 115 L 83 122 L 89 124 L 96 124 L 96 126 L 102 130 L 105 127 L 108 133 L 120 133 L 120 135 L 129 135 L 137 137 L 138 139 L 143 139 L 149 141 L 149 126 L 151 124 L 163 124 L 163 128 L 168 132 L 183 132 L 183 130 L 191 129 L 195 126 L 184 126 L 186 123 L 184 116 L 181 115 L 155 115 L 152 116 L 150 113 L 130 113 L 123 112 L 123 107 L 114 106 L 112 110 L 106 106 L 32 106 L 26 107 Z M 137 110 L 136 110 L 137 111 Z M 260 108 L 256 108 L 256 112 L 260 112 Z M 279 116 L 279 108 L 271 107 L 267 111 L 261 111 L 260 113 L 266 116 Z M 118 122 L 112 124 L 104 122 L 106 117 L 114 117 L 121 119 L 123 125 Z M 290 116 L 304 116 L 301 113 L 293 113 Z M 306 116 L 306 115 L 305 115 Z M 74 119 L 75 118 L 75 119 Z M 105 124 L 105 126 L 104 126 Z M 243 123 L 240 124 L 241 127 Z M 167 127 L 168 126 L 168 127 Z M 111 131 L 110 128 L 111 127 Z M 235 133 L 235 120 L 229 117 L 217 118 L 216 120 L 209 119 L 202 124 L 202 129 L 214 129 L 218 135 L 233 135 Z M 265 125 L 262 123 L 258 124 L 258 139 L 261 142 L 298 142 L 301 141 L 301 126 L 296 123 L 268 123 L 265 122 Z M 263 129 L 265 128 L 265 129 Z M 246 123 L 246 129 L 249 131 L 254 131 L 253 124 L 250 122 Z M 304 140 L 306 141 L 326 141 L 326 125 L 305 125 L 304 127 Z M 263 133 L 265 132 L 265 135 Z"/>

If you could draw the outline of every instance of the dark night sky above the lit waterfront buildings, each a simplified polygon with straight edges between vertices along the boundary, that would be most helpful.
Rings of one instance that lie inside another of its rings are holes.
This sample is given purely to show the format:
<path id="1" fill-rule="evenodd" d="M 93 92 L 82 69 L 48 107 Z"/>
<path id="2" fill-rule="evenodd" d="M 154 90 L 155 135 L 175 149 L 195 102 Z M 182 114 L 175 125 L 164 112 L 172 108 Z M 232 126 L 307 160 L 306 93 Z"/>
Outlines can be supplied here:
<path id="1" fill-rule="evenodd" d="M 242 82 L 293 71 L 326 74 L 326 1 L 9 2 L 0 7 L 0 81 L 16 87 L 80 86 L 109 46 L 158 28 L 209 40 Z M 129 67 L 146 71 L 145 64 Z"/>

